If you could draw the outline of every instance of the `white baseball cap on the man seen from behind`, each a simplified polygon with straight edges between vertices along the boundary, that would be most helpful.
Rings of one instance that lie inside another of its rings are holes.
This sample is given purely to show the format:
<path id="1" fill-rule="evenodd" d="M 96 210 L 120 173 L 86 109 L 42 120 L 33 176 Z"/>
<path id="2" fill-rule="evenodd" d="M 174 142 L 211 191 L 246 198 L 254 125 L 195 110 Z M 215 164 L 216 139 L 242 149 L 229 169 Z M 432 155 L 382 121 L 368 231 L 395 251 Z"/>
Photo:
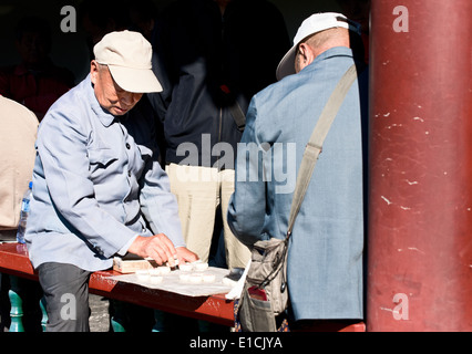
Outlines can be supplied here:
<path id="1" fill-rule="evenodd" d="M 345 28 L 360 35 L 360 24 L 349 20 L 342 13 L 324 12 L 315 13 L 306 19 L 294 38 L 294 46 L 285 54 L 277 67 L 277 80 L 295 74 L 295 55 L 298 44 L 307 37 L 332 28 Z"/>

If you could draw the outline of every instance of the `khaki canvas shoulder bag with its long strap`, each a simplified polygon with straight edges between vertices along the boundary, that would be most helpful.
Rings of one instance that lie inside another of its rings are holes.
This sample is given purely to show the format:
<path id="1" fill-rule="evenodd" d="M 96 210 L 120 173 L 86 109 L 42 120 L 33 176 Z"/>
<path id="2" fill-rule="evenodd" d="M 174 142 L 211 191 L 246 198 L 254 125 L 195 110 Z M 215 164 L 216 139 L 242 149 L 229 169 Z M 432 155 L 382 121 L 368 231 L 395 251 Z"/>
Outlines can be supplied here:
<path id="1" fill-rule="evenodd" d="M 238 304 L 242 331 L 276 332 L 276 316 L 288 308 L 287 253 L 288 241 L 315 164 L 322 149 L 328 131 L 355 80 L 357 67 L 352 64 L 329 97 L 310 139 L 305 148 L 298 171 L 290 209 L 287 235 L 284 239 L 257 241 L 252 249 L 252 261 Z"/>

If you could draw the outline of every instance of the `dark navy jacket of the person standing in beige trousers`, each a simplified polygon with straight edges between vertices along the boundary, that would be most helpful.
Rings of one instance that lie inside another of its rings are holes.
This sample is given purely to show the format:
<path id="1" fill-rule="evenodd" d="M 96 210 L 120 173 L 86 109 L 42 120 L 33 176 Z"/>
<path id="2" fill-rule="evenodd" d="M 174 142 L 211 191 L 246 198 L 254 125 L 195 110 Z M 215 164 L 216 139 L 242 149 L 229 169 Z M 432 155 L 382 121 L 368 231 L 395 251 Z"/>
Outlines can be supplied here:
<path id="1" fill-rule="evenodd" d="M 233 97 L 246 114 L 290 48 L 281 13 L 265 0 L 233 0 L 224 17 L 213 0 L 177 0 L 157 21 L 153 44 L 164 91 L 150 100 L 164 125 L 166 163 L 181 163 L 186 155 L 177 156 L 177 147 L 191 143 L 198 149 L 192 165 L 220 167 L 213 147 L 228 143 L 236 156 L 242 137 Z"/>

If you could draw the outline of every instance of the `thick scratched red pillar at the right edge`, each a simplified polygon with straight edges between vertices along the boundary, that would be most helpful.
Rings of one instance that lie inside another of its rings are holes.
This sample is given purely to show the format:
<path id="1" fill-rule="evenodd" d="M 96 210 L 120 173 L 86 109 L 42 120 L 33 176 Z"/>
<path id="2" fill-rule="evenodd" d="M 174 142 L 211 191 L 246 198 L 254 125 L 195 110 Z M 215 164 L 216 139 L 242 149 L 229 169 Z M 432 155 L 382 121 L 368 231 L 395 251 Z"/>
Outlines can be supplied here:
<path id="1" fill-rule="evenodd" d="M 372 1 L 367 331 L 472 331 L 471 13 Z"/>

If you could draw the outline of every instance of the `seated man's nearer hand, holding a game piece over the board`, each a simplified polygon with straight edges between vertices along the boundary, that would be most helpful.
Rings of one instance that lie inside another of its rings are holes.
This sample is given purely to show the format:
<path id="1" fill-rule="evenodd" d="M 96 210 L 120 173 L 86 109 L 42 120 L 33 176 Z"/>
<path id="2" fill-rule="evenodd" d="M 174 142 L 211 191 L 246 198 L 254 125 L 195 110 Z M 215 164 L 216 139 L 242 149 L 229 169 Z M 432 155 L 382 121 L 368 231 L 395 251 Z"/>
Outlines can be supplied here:
<path id="1" fill-rule="evenodd" d="M 168 262 L 171 267 L 174 267 L 174 259 L 177 258 L 174 244 L 164 233 L 138 236 L 127 251 L 142 258 L 152 258 L 160 266 Z"/>

